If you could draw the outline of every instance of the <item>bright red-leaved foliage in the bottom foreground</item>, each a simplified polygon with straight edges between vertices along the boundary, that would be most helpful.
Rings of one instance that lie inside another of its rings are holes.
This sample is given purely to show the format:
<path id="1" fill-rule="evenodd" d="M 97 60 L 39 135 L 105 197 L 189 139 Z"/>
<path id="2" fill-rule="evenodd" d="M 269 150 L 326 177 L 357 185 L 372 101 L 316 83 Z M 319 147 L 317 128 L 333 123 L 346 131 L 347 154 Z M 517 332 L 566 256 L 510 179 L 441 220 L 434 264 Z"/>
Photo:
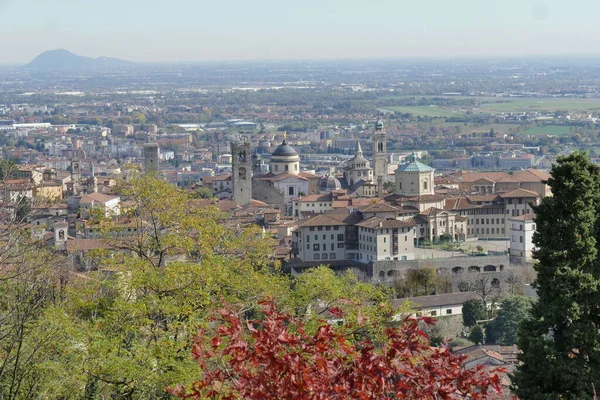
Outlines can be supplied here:
<path id="1" fill-rule="evenodd" d="M 501 391 L 501 370 L 465 369 L 464 357 L 432 348 L 419 322 L 386 328 L 384 340 L 352 341 L 348 330 L 323 322 L 309 335 L 302 321 L 262 303 L 264 319 L 243 322 L 220 311 L 210 338 L 196 337 L 193 357 L 202 377 L 191 388 L 168 389 L 181 399 L 487 399 Z M 364 324 L 359 317 L 358 325 Z"/>

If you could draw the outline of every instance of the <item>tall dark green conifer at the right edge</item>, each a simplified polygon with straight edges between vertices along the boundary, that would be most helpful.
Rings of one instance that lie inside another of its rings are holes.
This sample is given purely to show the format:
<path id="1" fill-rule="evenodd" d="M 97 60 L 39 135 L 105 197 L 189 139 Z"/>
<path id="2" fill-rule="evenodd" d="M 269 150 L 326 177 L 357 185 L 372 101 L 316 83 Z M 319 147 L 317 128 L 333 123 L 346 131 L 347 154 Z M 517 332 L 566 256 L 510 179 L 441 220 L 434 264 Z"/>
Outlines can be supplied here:
<path id="1" fill-rule="evenodd" d="M 600 387 L 600 167 L 583 153 L 559 157 L 536 214 L 539 300 L 523 322 L 513 379 L 525 399 L 592 399 Z"/>

